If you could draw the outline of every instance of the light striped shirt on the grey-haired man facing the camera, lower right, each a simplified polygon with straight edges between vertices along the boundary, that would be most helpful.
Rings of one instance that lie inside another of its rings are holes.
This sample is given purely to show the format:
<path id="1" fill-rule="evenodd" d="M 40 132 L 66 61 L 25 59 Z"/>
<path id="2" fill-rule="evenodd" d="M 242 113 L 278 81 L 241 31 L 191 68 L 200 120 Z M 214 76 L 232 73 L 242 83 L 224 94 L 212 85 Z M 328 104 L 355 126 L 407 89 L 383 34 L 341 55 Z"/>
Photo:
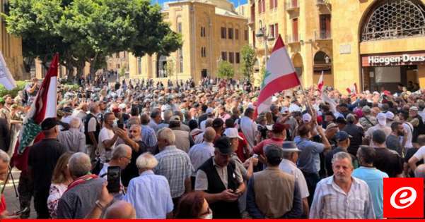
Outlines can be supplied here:
<path id="1" fill-rule="evenodd" d="M 318 183 L 310 218 L 320 219 L 370 219 L 375 218 L 369 187 L 363 180 L 351 177 L 350 190 L 344 192 L 330 176 Z"/>

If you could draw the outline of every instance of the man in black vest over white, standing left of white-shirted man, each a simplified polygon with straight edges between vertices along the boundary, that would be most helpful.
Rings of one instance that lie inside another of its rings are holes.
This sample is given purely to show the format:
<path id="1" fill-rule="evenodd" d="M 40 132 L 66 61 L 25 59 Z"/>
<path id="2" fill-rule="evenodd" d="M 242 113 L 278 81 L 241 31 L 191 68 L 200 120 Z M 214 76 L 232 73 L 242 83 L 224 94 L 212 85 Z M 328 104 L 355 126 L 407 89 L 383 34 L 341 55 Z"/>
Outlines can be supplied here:
<path id="1" fill-rule="evenodd" d="M 93 102 L 88 109 L 90 113 L 88 113 L 86 119 L 84 119 L 84 133 L 86 134 L 88 156 L 90 156 L 91 161 L 94 161 L 100 132 L 100 123 L 98 118 L 96 118 L 96 115 L 99 113 L 99 105 Z"/>

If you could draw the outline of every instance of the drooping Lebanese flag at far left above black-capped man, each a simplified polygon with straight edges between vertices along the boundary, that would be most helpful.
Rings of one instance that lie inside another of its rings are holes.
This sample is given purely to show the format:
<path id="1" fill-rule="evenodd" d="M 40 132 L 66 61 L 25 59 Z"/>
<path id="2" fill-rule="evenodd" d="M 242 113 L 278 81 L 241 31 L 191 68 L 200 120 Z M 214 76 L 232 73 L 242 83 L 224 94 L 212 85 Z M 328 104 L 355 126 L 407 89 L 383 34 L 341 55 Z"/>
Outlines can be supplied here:
<path id="1" fill-rule="evenodd" d="M 25 147 L 33 143 L 34 138 L 41 131 L 40 124 L 45 118 L 56 117 L 58 66 L 59 54 L 55 54 L 45 80 L 23 120 L 23 129 L 18 140 L 18 154 L 23 154 Z"/>

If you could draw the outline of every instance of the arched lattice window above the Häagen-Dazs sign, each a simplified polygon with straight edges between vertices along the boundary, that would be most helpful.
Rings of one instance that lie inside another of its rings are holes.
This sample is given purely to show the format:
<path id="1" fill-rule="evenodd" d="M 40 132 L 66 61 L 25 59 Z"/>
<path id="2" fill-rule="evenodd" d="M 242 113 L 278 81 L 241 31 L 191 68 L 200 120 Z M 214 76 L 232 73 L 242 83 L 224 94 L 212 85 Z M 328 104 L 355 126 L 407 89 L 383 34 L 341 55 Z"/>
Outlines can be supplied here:
<path id="1" fill-rule="evenodd" d="M 424 4 L 418 0 L 382 0 L 366 16 L 361 41 L 424 35 Z"/>

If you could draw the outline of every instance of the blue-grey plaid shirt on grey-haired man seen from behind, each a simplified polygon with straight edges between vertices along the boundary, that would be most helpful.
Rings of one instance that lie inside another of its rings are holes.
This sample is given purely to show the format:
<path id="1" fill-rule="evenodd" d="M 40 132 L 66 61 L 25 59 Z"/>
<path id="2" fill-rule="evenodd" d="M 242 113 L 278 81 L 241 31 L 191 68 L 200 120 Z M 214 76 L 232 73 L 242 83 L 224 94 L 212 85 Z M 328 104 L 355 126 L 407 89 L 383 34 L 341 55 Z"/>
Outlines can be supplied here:
<path id="1" fill-rule="evenodd" d="M 171 197 L 180 197 L 185 192 L 185 179 L 194 171 L 189 156 L 174 145 L 164 147 L 155 155 L 158 166 L 153 169 L 155 174 L 163 175 L 170 184 Z"/>

